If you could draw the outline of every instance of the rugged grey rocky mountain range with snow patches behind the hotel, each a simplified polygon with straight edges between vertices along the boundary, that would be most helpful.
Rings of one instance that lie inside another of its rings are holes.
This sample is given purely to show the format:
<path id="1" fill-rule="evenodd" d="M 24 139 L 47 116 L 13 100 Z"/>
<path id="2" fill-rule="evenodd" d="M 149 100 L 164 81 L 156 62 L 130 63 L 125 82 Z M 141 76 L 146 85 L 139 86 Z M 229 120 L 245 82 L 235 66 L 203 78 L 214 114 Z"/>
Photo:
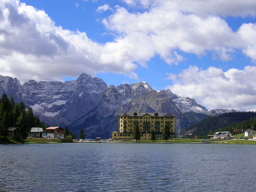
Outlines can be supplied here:
<path id="1" fill-rule="evenodd" d="M 83 129 L 86 138 L 109 138 L 115 131 L 115 116 L 123 112 L 169 112 L 176 116 L 175 132 L 191 125 L 183 115 L 215 115 L 233 110 L 210 110 L 194 99 L 173 94 L 171 90 L 153 90 L 146 82 L 121 84 L 115 87 L 100 78 L 81 74 L 78 79 L 66 82 L 29 80 L 23 85 L 17 78 L 0 75 L 0 94 L 13 96 L 16 103 L 21 100 L 31 106 L 33 113 L 47 125 L 68 129 L 78 136 Z M 195 117 L 200 119 L 200 115 Z"/>

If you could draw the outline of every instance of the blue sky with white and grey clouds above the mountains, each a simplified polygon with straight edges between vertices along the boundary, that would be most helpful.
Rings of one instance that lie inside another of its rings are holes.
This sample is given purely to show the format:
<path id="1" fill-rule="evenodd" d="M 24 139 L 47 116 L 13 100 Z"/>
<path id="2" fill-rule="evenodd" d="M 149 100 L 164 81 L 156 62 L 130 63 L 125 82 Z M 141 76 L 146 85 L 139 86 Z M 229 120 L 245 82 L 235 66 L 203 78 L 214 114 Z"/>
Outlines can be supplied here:
<path id="1" fill-rule="evenodd" d="M 108 86 L 169 88 L 209 110 L 256 110 L 255 1 L 3 0 L 0 10 L 3 76 L 85 72 Z"/>

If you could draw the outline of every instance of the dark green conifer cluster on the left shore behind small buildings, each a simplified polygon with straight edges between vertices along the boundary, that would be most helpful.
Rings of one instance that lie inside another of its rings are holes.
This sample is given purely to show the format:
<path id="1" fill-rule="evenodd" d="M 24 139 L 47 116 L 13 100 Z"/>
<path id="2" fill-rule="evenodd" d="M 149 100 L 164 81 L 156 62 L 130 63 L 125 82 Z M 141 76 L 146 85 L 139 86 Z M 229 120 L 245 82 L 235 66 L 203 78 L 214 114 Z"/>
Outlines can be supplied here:
<path id="1" fill-rule="evenodd" d="M 42 127 L 45 130 L 46 125 L 40 121 L 38 115 L 33 114 L 31 107 L 26 109 L 22 101 L 15 104 L 13 96 L 8 99 L 4 93 L 0 100 L 0 135 L 6 137 L 9 127 L 19 127 L 24 139 L 31 127 Z"/>

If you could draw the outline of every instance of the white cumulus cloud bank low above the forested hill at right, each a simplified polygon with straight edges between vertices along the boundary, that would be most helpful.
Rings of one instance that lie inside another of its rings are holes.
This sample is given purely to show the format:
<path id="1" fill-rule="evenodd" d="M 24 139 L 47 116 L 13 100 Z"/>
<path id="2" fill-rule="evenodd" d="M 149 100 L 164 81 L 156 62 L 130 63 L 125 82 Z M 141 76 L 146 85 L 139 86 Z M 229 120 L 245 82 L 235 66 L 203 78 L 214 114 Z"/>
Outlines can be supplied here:
<path id="1" fill-rule="evenodd" d="M 208 109 L 256 110 L 256 67 L 245 66 L 224 72 L 209 67 L 202 70 L 190 66 L 179 74 L 167 74 L 173 81 L 169 88 L 173 93 L 189 96 Z"/>

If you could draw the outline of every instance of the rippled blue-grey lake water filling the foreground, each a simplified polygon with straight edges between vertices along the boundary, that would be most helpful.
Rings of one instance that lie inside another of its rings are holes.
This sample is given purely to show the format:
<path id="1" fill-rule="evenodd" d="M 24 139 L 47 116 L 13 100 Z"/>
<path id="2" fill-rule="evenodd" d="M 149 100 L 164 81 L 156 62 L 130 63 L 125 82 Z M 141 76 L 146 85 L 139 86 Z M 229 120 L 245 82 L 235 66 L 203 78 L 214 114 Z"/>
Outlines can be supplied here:
<path id="1" fill-rule="evenodd" d="M 255 191 L 256 145 L 0 145 L 0 191 Z"/>

